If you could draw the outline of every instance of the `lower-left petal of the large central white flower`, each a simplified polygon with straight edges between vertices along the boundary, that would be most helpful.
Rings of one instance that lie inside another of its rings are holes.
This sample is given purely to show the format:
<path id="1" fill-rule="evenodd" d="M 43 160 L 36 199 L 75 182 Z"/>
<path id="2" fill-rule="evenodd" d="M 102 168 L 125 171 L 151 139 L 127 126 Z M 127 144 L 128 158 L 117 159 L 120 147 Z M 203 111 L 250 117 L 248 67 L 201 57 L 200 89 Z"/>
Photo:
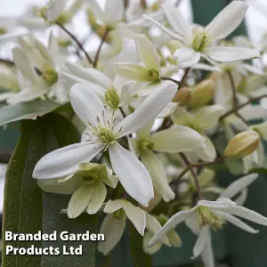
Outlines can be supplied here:
<path id="1" fill-rule="evenodd" d="M 103 150 L 103 144 L 89 142 L 75 143 L 54 150 L 37 162 L 33 177 L 50 179 L 74 174 L 78 170 L 79 163 L 92 160 L 101 150 Z"/>

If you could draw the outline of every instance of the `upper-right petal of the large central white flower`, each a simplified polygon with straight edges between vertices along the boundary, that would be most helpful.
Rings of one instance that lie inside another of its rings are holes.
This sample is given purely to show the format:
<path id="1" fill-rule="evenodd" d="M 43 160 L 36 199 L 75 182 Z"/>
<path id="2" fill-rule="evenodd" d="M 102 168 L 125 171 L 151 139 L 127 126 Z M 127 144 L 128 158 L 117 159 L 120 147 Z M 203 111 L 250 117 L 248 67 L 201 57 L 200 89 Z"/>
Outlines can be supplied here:
<path id="1" fill-rule="evenodd" d="M 166 104 L 174 98 L 177 85 L 172 82 L 164 82 L 158 85 L 158 89 L 135 109 L 134 113 L 125 117 L 118 123 L 114 131 L 120 131 L 119 137 L 132 134 L 147 125 L 158 113 L 166 107 Z"/>

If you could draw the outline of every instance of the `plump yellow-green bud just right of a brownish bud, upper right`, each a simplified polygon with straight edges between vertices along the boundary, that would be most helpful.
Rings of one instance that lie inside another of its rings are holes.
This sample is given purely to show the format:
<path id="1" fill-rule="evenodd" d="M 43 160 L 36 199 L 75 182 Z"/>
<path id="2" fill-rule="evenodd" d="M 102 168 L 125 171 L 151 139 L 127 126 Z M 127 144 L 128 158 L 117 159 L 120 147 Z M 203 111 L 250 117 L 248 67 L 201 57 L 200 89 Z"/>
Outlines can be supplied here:
<path id="1" fill-rule="evenodd" d="M 190 107 L 197 109 L 206 105 L 214 97 L 214 81 L 206 79 L 191 91 Z"/>

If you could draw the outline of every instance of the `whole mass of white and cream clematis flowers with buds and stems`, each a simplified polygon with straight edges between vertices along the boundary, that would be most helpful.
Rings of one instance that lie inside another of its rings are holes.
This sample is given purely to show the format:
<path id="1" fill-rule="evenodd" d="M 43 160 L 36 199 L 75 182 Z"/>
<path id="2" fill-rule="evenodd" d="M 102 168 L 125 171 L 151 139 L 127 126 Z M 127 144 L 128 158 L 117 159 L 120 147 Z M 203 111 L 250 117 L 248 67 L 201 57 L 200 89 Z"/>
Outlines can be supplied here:
<path id="1" fill-rule="evenodd" d="M 184 222 L 198 235 L 193 258 L 212 267 L 214 230 L 232 223 L 257 232 L 238 217 L 267 225 L 242 206 L 257 179 L 250 173 L 265 164 L 267 43 L 225 39 L 247 8 L 232 1 L 203 27 L 170 0 L 113 0 L 104 10 L 96 0 L 53 0 L 12 24 L 0 20 L 0 49 L 15 44 L 6 52 L 12 60 L 0 59 L 3 105 L 68 106 L 81 135 L 41 158 L 33 178 L 44 190 L 71 194 L 70 219 L 106 214 L 102 254 L 117 245 L 127 220 L 147 254 L 179 249 L 175 227 Z M 83 41 L 75 30 L 82 13 L 91 32 Z M 239 177 L 225 190 L 217 165 Z"/>

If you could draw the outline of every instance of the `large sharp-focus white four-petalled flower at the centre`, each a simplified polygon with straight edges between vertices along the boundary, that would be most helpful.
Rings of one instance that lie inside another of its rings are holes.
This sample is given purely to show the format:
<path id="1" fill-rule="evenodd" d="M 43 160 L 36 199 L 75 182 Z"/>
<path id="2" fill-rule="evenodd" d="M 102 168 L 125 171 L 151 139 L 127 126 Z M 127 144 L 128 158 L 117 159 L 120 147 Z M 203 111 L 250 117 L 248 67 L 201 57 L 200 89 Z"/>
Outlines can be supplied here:
<path id="1" fill-rule="evenodd" d="M 50 179 L 73 174 L 77 172 L 79 163 L 90 161 L 108 149 L 113 170 L 126 192 L 142 206 L 148 206 L 154 196 L 150 174 L 141 161 L 117 141 L 154 119 L 172 100 L 175 92 L 176 86 L 166 82 L 151 93 L 133 114 L 114 126 L 98 96 L 84 85 L 74 85 L 70 91 L 71 105 L 85 125 L 90 125 L 92 141 L 72 144 L 45 155 L 36 164 L 33 177 Z"/>

